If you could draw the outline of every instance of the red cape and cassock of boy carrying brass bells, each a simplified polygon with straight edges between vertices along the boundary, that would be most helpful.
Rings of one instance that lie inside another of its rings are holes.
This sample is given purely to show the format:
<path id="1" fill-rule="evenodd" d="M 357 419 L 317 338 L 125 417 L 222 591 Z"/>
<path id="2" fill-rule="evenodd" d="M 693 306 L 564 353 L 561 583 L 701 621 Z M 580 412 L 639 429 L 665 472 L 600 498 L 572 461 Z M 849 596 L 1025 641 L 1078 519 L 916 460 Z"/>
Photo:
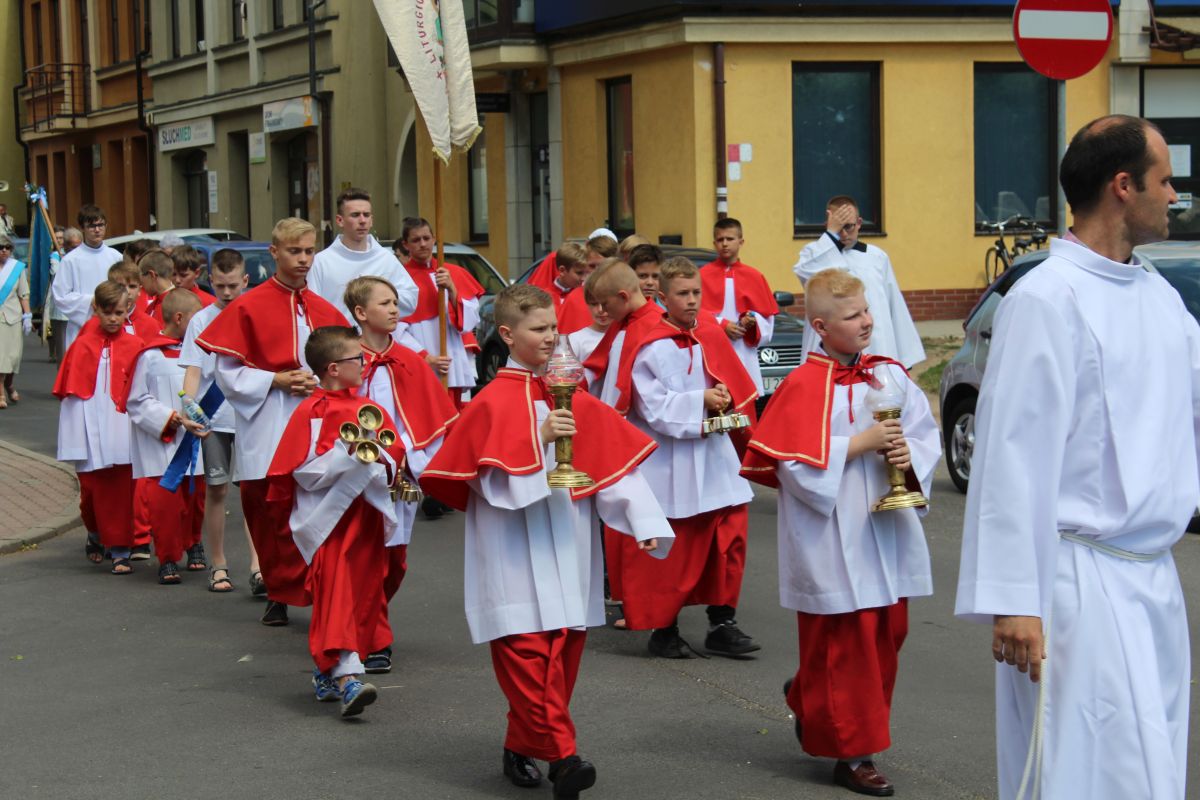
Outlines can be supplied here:
<path id="1" fill-rule="evenodd" d="M 268 473 L 276 479 L 270 498 L 287 505 L 289 516 L 295 492 L 292 474 L 308 461 L 310 451 L 322 456 L 334 447 L 344 447 L 338 429 L 346 422 L 356 423 L 364 405 L 379 411 L 380 429 L 396 429 L 386 411 L 349 389 L 318 389 L 292 414 Z M 322 425 L 313 446 L 316 420 Z M 388 453 L 395 463 L 403 463 L 400 439 L 388 447 Z M 328 673 L 337 664 L 342 650 L 365 657 L 391 644 L 384 599 L 386 561 L 384 517 L 359 495 L 313 553 L 307 571 L 307 591 L 312 597 L 308 650 L 322 672 Z"/>

